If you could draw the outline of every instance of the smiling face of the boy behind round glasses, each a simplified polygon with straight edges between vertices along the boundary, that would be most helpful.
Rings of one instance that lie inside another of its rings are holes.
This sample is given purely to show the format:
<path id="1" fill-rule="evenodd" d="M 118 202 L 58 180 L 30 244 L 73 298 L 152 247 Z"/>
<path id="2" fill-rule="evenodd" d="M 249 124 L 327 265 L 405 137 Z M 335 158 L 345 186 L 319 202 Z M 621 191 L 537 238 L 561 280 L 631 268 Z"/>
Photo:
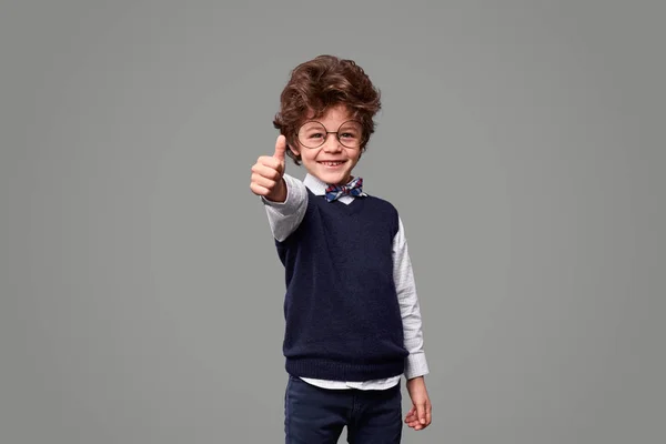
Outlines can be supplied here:
<path id="1" fill-rule="evenodd" d="M 315 119 L 322 123 L 325 131 L 339 131 L 340 127 L 351 120 L 351 115 L 345 107 L 339 105 L 331 108 L 323 117 Z M 306 127 L 305 127 L 306 128 Z M 319 127 L 322 129 L 322 127 Z M 351 138 L 361 138 L 362 134 L 353 131 L 347 132 L 345 124 L 341 129 L 340 138 L 346 145 L 352 143 L 346 142 Z M 301 132 L 303 137 L 303 131 Z M 307 172 L 322 182 L 329 184 L 345 184 L 352 178 L 352 170 L 359 163 L 361 157 L 360 148 L 347 148 L 340 143 L 335 134 L 325 134 L 324 131 L 313 131 L 306 134 L 311 140 L 317 140 L 319 142 L 309 143 L 310 145 L 316 145 L 321 143 L 322 139 L 325 138 L 324 143 L 319 148 L 306 148 L 301 142 L 297 147 L 291 147 L 290 149 L 294 154 L 301 154 L 301 161 Z"/>

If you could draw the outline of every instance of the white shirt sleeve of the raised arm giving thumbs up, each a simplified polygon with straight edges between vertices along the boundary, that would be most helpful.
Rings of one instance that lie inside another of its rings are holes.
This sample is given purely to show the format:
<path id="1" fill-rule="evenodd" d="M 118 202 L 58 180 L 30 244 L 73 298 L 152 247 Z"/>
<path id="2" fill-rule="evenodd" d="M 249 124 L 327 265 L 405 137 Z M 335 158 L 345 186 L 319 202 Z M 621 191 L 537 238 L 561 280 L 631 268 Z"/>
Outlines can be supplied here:
<path id="1" fill-rule="evenodd" d="M 305 210 L 307 210 L 305 184 L 289 174 L 284 174 L 283 178 L 286 184 L 286 199 L 284 202 L 272 202 L 263 196 L 261 198 L 266 209 L 273 238 L 280 242 L 289 238 L 299 228 L 305 215 Z"/>

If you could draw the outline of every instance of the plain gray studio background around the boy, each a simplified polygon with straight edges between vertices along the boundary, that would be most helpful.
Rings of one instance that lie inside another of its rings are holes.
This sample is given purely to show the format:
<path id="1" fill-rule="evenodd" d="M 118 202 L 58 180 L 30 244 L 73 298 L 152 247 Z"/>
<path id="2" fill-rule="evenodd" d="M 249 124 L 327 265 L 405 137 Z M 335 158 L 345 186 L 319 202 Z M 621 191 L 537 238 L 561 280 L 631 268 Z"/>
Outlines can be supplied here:
<path id="1" fill-rule="evenodd" d="M 3 1 L 0 443 L 283 441 L 250 167 L 320 53 L 383 92 L 356 172 L 434 403 L 404 442 L 665 442 L 665 4 Z"/>

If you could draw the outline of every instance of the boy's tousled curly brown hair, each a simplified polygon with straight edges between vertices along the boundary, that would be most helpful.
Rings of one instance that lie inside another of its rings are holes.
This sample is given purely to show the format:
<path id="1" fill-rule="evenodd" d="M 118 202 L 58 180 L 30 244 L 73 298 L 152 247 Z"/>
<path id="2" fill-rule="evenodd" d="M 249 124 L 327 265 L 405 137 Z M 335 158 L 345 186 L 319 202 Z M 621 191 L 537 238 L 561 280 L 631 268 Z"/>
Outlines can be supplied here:
<path id="1" fill-rule="evenodd" d="M 381 93 L 367 74 L 353 60 L 319 56 L 299 64 L 280 94 L 280 112 L 273 125 L 297 147 L 296 132 L 306 119 L 322 117 L 330 108 L 343 104 L 363 127 L 361 152 L 364 152 L 375 130 L 374 115 L 382 108 Z M 301 157 L 286 150 L 299 165 Z"/>

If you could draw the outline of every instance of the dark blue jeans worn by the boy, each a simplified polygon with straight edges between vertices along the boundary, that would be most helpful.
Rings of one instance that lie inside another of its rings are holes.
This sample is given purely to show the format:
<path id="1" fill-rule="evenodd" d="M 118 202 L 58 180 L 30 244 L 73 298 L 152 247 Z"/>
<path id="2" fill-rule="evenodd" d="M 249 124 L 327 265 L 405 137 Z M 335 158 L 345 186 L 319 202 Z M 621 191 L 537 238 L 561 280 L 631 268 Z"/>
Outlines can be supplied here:
<path id="1" fill-rule="evenodd" d="M 400 384 L 389 390 L 326 390 L 289 376 L 284 396 L 286 444 L 335 444 L 347 427 L 351 444 L 397 444 Z"/>

